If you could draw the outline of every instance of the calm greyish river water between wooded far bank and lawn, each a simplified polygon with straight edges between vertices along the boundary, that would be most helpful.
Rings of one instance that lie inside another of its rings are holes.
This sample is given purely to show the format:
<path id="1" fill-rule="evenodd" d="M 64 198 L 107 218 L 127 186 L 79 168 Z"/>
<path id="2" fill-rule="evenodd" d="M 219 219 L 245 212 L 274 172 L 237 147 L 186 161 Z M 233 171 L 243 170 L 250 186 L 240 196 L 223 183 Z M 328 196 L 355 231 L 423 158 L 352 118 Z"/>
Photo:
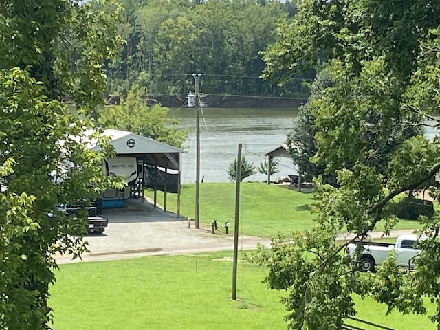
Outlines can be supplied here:
<path id="1" fill-rule="evenodd" d="M 236 159 L 238 144 L 243 144 L 242 155 L 259 166 L 264 153 L 285 142 L 292 130 L 296 108 L 203 108 L 200 113 L 200 179 L 203 182 L 228 182 L 228 168 Z M 170 109 L 169 115 L 179 120 L 179 127 L 191 130 L 182 148 L 181 182 L 194 183 L 196 170 L 195 109 Z M 296 174 L 288 158 L 278 158 L 278 173 L 285 177 Z M 256 173 L 243 181 L 265 181 L 266 175 Z"/>

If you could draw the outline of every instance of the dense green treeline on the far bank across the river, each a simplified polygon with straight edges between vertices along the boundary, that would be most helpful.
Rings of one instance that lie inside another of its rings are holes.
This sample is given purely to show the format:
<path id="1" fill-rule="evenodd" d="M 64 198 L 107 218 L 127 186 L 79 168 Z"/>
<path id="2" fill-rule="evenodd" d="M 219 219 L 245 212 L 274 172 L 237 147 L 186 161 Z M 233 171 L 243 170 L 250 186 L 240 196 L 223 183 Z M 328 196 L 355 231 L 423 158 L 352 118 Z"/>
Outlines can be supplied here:
<path id="1" fill-rule="evenodd" d="M 191 74 L 197 72 L 203 74 L 200 92 L 208 104 L 292 104 L 307 98 L 303 77 L 313 72 L 283 87 L 259 78 L 265 66 L 261 51 L 274 42 L 276 23 L 296 13 L 292 1 L 120 2 L 126 43 L 120 58 L 107 65 L 109 95 L 125 97 L 133 89 L 180 105 L 194 90 Z"/>

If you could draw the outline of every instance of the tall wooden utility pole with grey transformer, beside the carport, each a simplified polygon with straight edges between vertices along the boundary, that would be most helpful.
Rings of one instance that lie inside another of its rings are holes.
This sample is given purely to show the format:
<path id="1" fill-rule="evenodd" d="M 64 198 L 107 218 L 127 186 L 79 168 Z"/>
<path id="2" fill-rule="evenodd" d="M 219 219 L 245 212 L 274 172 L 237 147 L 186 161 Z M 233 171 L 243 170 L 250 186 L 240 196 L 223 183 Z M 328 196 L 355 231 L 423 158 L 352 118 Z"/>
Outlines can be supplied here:
<path id="1" fill-rule="evenodd" d="M 192 74 L 195 80 L 195 228 L 200 226 L 200 98 L 199 78 L 201 74 Z"/>

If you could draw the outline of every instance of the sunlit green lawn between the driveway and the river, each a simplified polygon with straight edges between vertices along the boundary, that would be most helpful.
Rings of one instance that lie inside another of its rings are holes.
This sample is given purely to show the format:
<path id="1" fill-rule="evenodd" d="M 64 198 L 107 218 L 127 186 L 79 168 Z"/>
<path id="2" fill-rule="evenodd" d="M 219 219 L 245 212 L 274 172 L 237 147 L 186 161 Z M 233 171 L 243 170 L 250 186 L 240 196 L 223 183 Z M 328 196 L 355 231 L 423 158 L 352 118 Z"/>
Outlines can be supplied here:
<path id="1" fill-rule="evenodd" d="M 153 191 L 146 190 L 145 195 L 153 198 Z M 312 226 L 313 215 L 309 212 L 309 205 L 315 202 L 313 193 L 258 182 L 243 182 L 240 195 L 241 234 L 272 237 L 279 232 L 290 234 Z M 163 201 L 163 192 L 157 192 L 157 203 L 163 205 Z M 167 194 L 167 209 L 177 211 L 177 194 Z M 180 212 L 186 217 L 195 217 L 195 184 L 182 186 Z M 210 225 L 213 219 L 217 219 L 219 225 L 228 221 L 232 232 L 234 214 L 235 184 L 200 185 L 202 224 Z M 415 229 L 417 226 L 417 221 L 401 220 L 395 229 Z M 383 225 L 378 230 L 383 230 Z"/>

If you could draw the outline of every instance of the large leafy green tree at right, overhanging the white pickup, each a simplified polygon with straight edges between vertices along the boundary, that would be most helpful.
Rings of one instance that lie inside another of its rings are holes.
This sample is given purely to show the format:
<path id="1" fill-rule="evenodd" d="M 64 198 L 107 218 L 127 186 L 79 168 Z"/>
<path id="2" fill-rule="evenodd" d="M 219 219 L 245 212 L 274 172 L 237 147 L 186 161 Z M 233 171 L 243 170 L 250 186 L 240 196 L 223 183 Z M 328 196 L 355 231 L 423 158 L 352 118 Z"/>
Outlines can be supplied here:
<path id="1" fill-rule="evenodd" d="M 421 184 L 439 197 L 431 181 L 440 169 L 438 139 L 417 132 L 438 106 L 439 14 L 440 4 L 428 0 L 298 1 L 294 21 L 281 23 L 265 52 L 265 75 L 281 83 L 322 61 L 335 81 L 309 106 L 314 162 L 334 171 L 340 186 L 318 179 L 314 230 L 295 234 L 295 245 L 274 239 L 257 258 L 270 268 L 268 285 L 287 290 L 291 329 L 340 329 L 355 314 L 353 294 L 402 313 L 426 312 L 428 296 L 439 327 L 438 221 L 421 219 L 428 239 L 410 274 L 390 259 L 377 274 L 360 276 L 357 261 L 340 254 L 347 243 L 334 240 L 341 231 L 364 240 L 380 223 L 389 232 L 396 219 L 386 216 L 388 203 Z"/>

